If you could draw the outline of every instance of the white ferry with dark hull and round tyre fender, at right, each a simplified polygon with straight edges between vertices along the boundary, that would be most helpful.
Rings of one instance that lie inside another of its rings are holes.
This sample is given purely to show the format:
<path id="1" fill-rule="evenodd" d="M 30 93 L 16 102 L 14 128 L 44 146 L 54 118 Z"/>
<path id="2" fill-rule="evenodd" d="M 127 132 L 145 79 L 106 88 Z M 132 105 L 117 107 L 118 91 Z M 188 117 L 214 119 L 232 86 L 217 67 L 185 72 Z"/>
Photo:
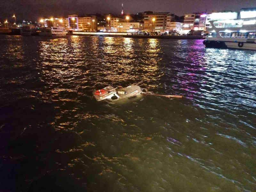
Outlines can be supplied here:
<path id="1" fill-rule="evenodd" d="M 256 50 L 256 17 L 210 21 L 205 47 Z"/>

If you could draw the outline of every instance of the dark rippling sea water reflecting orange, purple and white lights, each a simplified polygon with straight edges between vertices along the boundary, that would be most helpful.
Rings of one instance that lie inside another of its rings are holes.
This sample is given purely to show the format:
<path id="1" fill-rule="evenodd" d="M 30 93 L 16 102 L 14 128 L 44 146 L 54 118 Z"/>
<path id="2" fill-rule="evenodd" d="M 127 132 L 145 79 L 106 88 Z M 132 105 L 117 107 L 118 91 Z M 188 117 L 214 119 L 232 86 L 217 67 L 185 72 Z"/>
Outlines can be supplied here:
<path id="1" fill-rule="evenodd" d="M 0 191 L 256 191 L 255 51 L 84 36 L 0 47 Z M 184 98 L 92 96 L 131 84 Z"/>

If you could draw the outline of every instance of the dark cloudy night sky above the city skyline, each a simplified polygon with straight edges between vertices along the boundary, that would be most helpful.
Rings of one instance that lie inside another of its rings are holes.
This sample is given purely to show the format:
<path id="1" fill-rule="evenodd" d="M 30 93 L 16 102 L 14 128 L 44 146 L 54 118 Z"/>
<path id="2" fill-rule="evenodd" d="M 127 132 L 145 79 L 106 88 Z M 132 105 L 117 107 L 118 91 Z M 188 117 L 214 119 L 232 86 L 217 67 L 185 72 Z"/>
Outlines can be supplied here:
<path id="1" fill-rule="evenodd" d="M 18 20 L 38 20 L 68 14 L 172 12 L 182 16 L 197 11 L 239 11 L 240 8 L 256 7 L 256 0 L 0 0 L 0 20 L 11 20 L 15 13 Z"/>

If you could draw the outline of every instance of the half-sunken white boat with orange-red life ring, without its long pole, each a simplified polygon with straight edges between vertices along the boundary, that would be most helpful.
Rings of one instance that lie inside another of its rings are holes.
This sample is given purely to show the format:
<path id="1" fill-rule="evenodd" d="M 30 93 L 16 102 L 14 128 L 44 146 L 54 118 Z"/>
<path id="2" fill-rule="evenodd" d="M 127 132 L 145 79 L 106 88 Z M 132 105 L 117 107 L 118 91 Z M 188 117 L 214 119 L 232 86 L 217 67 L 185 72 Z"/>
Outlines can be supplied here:
<path id="1" fill-rule="evenodd" d="M 97 101 L 105 99 L 116 100 L 132 97 L 134 95 L 140 94 L 140 92 L 141 88 L 138 85 L 130 85 L 128 87 L 120 89 L 114 88 L 112 86 L 107 86 L 100 90 L 94 90 L 93 96 Z"/>

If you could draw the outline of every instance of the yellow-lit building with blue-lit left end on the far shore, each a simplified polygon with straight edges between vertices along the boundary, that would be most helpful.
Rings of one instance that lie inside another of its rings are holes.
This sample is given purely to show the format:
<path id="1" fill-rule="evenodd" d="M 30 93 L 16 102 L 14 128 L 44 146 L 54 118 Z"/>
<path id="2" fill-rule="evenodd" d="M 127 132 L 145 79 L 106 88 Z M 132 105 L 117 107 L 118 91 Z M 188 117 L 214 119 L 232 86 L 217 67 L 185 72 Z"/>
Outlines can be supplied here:
<path id="1" fill-rule="evenodd" d="M 68 15 L 66 22 L 68 23 L 68 28 L 70 30 L 93 31 L 97 29 L 97 19 L 95 15 Z"/>

